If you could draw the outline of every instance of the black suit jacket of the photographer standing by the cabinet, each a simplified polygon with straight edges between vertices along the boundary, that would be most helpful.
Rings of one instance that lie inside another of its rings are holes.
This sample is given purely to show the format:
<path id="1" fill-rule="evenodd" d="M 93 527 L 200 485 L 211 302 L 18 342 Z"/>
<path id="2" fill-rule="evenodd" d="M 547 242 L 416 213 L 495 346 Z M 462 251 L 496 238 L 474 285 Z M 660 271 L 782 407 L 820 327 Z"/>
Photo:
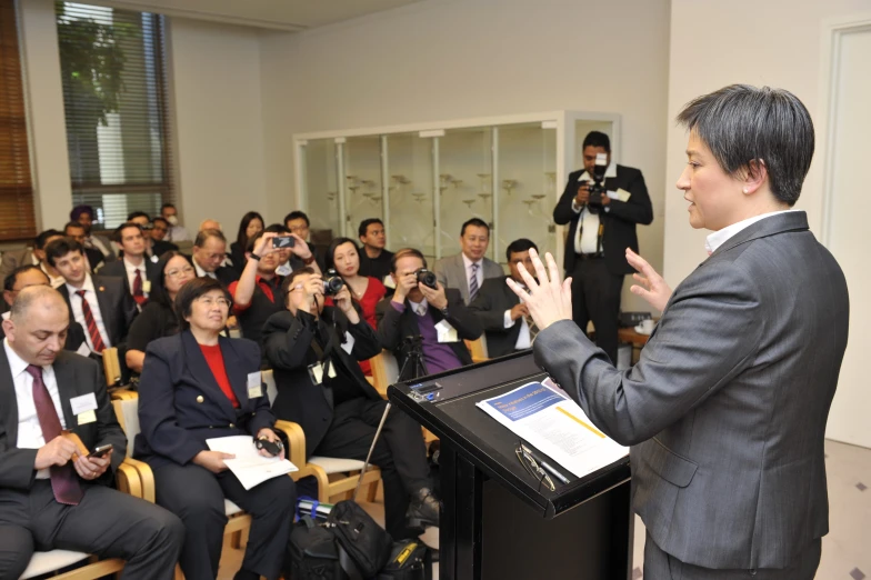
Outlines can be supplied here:
<path id="1" fill-rule="evenodd" d="M 569 181 L 562 192 L 560 201 L 553 209 L 553 221 L 558 226 L 569 224 L 569 236 L 565 238 L 565 257 L 563 268 L 571 272 L 574 268 L 574 232 L 578 231 L 578 221 L 581 213 L 572 211 L 572 200 L 578 194 L 578 178 L 583 174 L 580 169 L 569 173 Z M 625 259 L 625 249 L 632 248 L 638 252 L 638 236 L 635 234 L 635 223 L 644 226 L 653 221 L 653 207 L 650 204 L 650 196 L 644 184 L 644 177 L 641 171 L 631 167 L 617 166 L 617 177 L 604 180 L 608 191 L 624 189 L 631 193 L 627 201 L 612 199 L 608 204 L 608 211 L 599 210 L 600 223 L 604 226 L 602 233 L 602 251 L 608 271 L 612 274 L 629 274 L 634 272 L 634 268 L 629 266 Z"/>

